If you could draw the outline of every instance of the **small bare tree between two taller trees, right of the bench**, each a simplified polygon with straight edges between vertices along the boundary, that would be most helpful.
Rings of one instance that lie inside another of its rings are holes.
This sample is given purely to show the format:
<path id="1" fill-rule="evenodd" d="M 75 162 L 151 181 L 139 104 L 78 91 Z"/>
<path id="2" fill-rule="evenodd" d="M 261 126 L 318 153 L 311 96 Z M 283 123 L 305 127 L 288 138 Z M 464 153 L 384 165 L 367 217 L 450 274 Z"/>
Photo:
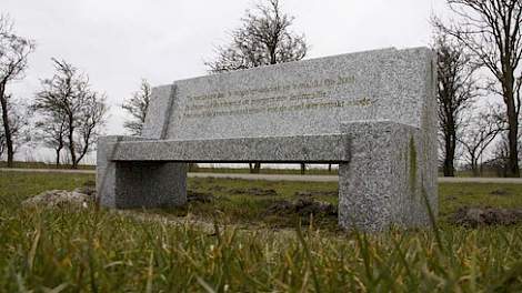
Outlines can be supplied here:
<path id="1" fill-rule="evenodd" d="M 480 112 L 472 117 L 464 134 L 459 138 L 463 146 L 464 159 L 474 176 L 480 174 L 479 160 L 484 151 L 496 135 L 505 130 L 505 119 L 499 114 L 499 111 L 491 109 L 495 108 L 491 107 L 489 112 Z"/>

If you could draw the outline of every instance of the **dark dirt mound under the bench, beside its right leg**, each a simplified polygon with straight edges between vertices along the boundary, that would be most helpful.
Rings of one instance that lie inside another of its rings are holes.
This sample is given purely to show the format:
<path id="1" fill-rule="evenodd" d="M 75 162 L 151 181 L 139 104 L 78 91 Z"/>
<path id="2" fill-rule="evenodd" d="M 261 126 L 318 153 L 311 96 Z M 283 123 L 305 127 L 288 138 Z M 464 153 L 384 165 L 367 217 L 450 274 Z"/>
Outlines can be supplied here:
<path id="1" fill-rule="evenodd" d="M 325 214 L 337 215 L 338 208 L 333 204 L 310 199 L 299 199 L 297 201 L 277 201 L 267 210 L 267 214 L 287 215 L 298 213 L 300 215 Z"/>

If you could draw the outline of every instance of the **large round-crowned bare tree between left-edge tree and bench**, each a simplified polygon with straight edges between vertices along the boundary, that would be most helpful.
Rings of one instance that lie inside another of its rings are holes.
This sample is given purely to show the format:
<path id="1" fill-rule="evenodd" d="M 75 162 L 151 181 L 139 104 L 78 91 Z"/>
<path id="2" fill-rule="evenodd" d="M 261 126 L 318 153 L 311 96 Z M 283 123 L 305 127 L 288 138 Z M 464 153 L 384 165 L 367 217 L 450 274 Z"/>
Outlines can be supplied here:
<path id="1" fill-rule="evenodd" d="M 64 123 L 64 146 L 69 150 L 72 168 L 77 169 L 79 162 L 96 145 L 104 125 L 108 110 L 106 97 L 92 91 L 89 78 L 76 67 L 63 60 L 52 61 L 57 72 L 51 79 L 42 80 L 42 90 L 37 93 L 33 109 L 43 117 L 42 121 L 46 121 L 46 117 L 51 117 L 61 120 L 56 121 L 60 127 L 61 122 Z M 52 131 L 59 144 L 61 132 L 56 130 L 56 125 Z"/>

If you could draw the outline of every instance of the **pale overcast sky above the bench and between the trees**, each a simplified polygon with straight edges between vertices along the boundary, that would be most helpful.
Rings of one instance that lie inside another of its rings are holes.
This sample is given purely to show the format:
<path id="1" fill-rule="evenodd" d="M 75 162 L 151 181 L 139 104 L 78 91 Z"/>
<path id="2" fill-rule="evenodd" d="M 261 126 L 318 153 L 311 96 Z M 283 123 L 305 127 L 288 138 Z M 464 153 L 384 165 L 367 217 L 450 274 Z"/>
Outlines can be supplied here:
<path id="1" fill-rule="evenodd" d="M 308 58 L 385 47 L 426 46 L 429 19 L 443 0 L 281 0 L 303 32 Z M 86 71 L 111 105 L 108 134 L 122 134 L 123 99 L 139 88 L 207 73 L 204 60 L 228 41 L 254 0 L 2 0 L 18 34 L 36 40 L 27 78 L 8 90 L 32 99 L 40 79 L 52 75 L 51 58 Z"/>

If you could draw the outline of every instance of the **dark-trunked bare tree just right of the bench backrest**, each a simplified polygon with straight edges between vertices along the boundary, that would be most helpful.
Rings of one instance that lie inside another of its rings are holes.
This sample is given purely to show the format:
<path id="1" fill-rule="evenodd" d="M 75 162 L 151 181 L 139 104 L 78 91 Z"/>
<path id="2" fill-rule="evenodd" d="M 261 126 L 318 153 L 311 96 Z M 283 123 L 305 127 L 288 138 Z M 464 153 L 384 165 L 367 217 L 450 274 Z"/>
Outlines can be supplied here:
<path id="1" fill-rule="evenodd" d="M 444 176 L 454 176 L 458 135 L 461 133 L 462 112 L 472 105 L 478 87 L 470 67 L 470 55 L 462 44 L 452 42 L 446 34 L 438 32 L 434 40 L 438 55 L 439 129 L 443 145 Z"/>

